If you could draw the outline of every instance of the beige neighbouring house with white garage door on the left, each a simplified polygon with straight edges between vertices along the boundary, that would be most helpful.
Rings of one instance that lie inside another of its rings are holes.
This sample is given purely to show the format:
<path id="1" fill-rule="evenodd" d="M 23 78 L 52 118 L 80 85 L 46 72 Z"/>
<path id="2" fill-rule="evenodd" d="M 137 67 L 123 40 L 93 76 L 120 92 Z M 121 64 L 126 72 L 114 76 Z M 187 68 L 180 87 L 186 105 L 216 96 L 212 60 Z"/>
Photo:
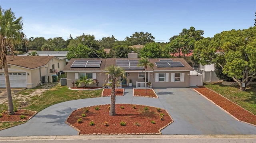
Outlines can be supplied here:
<path id="1" fill-rule="evenodd" d="M 34 88 L 40 82 L 52 82 L 52 75 L 66 66 L 54 56 L 7 56 L 11 88 Z M 4 69 L 0 70 L 0 88 L 6 88 Z"/>

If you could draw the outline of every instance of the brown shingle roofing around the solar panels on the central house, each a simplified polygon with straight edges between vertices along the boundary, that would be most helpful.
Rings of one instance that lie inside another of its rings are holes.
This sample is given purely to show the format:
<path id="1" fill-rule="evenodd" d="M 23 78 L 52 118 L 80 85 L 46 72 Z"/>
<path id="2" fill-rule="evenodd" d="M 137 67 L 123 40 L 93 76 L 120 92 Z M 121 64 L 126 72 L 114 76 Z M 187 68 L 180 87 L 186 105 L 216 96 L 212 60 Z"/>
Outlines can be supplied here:
<path id="1" fill-rule="evenodd" d="M 118 58 L 124 59 L 124 58 Z M 71 68 L 72 64 L 75 60 L 96 60 L 96 59 L 70 59 L 66 67 L 63 71 L 104 71 L 104 69 L 110 65 L 116 65 L 117 58 L 110 58 L 110 59 L 97 59 L 101 60 L 100 67 L 98 68 Z M 127 60 L 127 58 L 126 58 Z M 130 59 L 129 59 L 130 60 Z M 137 59 L 138 60 L 138 59 Z M 155 62 L 159 62 L 160 59 L 149 59 L 150 63 L 154 64 L 153 69 L 148 67 L 147 71 L 193 71 L 193 68 L 183 59 L 183 58 L 174 58 L 172 61 L 180 61 L 184 67 L 157 67 Z M 129 71 L 141 71 L 141 70 L 129 70 Z"/>

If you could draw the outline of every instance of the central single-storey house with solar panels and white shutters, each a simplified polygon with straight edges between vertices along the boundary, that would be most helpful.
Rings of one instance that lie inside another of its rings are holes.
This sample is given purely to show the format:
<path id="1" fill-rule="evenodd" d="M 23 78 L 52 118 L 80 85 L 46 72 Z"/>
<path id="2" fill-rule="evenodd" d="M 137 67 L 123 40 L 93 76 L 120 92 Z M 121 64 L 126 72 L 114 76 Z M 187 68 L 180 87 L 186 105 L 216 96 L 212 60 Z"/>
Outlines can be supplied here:
<path id="1" fill-rule="evenodd" d="M 129 53 L 128 59 L 70 59 L 64 68 L 67 75 L 67 86 L 71 87 L 80 76 L 88 76 L 97 79 L 99 86 L 108 82 L 104 69 L 110 65 L 124 67 L 128 81 L 122 82 L 122 86 L 132 85 L 139 87 L 144 82 L 144 68 L 137 67 L 137 53 Z M 136 58 L 135 58 L 136 57 Z M 147 70 L 147 80 L 152 82 L 152 87 L 189 87 L 189 74 L 193 68 L 182 58 L 174 59 L 149 59 L 154 64 L 153 69 Z M 93 85 L 95 86 L 95 85 Z"/>

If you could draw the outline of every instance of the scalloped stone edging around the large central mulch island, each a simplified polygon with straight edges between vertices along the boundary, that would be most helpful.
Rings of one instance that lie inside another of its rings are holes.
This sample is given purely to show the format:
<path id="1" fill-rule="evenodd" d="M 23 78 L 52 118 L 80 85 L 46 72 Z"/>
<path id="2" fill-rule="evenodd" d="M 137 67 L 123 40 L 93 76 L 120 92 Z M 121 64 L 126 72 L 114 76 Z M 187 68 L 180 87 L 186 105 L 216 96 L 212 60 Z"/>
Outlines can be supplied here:
<path id="1" fill-rule="evenodd" d="M 110 105 L 110 104 L 102 104 L 102 105 Z M 118 104 L 116 104 L 118 105 Z M 128 105 L 140 105 L 140 104 L 128 104 Z M 100 106 L 100 105 L 93 105 L 93 106 Z M 82 107 L 82 108 L 90 108 L 90 107 L 93 107 L 93 106 L 88 106 L 88 107 Z M 140 105 L 140 106 L 143 106 L 143 105 Z M 152 108 L 157 108 L 157 107 L 154 107 L 154 106 L 148 106 L 148 107 L 152 107 Z M 76 110 L 80 110 L 82 108 L 79 108 L 79 109 L 76 109 Z M 72 111 L 71 114 L 73 112 L 75 112 L 76 110 Z M 165 109 L 162 109 L 161 110 L 165 110 Z M 170 116 L 169 112 L 167 110 L 165 110 L 167 112 L 167 114 Z M 71 116 L 71 114 L 68 116 L 68 118 Z M 74 125 L 68 123 L 68 118 L 66 119 L 65 123 L 68 124 L 70 127 L 74 128 L 76 131 L 78 131 L 78 134 L 77 135 L 161 135 L 161 130 L 166 128 L 168 125 L 170 125 L 171 123 L 173 123 L 173 118 L 172 116 L 170 116 L 170 118 L 172 119 L 172 121 L 170 123 L 168 123 L 167 125 L 165 125 L 164 127 L 161 127 L 158 131 L 158 133 L 89 133 L 89 134 L 80 134 L 80 130 L 78 128 L 76 128 Z"/>

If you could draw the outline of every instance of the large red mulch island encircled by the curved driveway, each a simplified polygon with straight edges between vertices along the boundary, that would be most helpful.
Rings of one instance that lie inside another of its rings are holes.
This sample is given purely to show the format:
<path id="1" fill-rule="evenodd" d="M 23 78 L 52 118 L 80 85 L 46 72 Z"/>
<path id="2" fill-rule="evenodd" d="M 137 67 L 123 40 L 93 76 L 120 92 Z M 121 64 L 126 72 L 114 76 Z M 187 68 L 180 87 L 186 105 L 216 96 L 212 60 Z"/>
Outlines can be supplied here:
<path id="1" fill-rule="evenodd" d="M 172 118 L 163 109 L 157 112 L 155 107 L 147 106 L 148 110 L 145 111 L 145 106 L 142 105 L 136 105 L 134 109 L 132 104 L 116 104 L 116 116 L 109 116 L 108 106 L 110 105 L 100 105 L 100 110 L 95 110 L 96 106 L 86 107 L 89 108 L 89 112 L 85 112 L 86 108 L 75 110 L 67 122 L 79 129 L 80 134 L 160 133 L 162 127 L 172 123 Z M 124 106 L 124 109 L 121 109 L 121 106 Z M 86 117 L 82 117 L 83 113 Z M 164 114 L 164 120 L 160 120 L 160 113 Z M 82 118 L 82 123 L 77 122 L 79 118 Z M 94 121 L 95 125 L 89 125 L 90 121 Z M 104 125 L 105 121 L 108 122 L 108 126 Z M 121 126 L 121 121 L 126 122 L 126 125 Z M 151 121 L 155 121 L 155 124 Z M 140 126 L 137 126 L 136 122 Z"/>

